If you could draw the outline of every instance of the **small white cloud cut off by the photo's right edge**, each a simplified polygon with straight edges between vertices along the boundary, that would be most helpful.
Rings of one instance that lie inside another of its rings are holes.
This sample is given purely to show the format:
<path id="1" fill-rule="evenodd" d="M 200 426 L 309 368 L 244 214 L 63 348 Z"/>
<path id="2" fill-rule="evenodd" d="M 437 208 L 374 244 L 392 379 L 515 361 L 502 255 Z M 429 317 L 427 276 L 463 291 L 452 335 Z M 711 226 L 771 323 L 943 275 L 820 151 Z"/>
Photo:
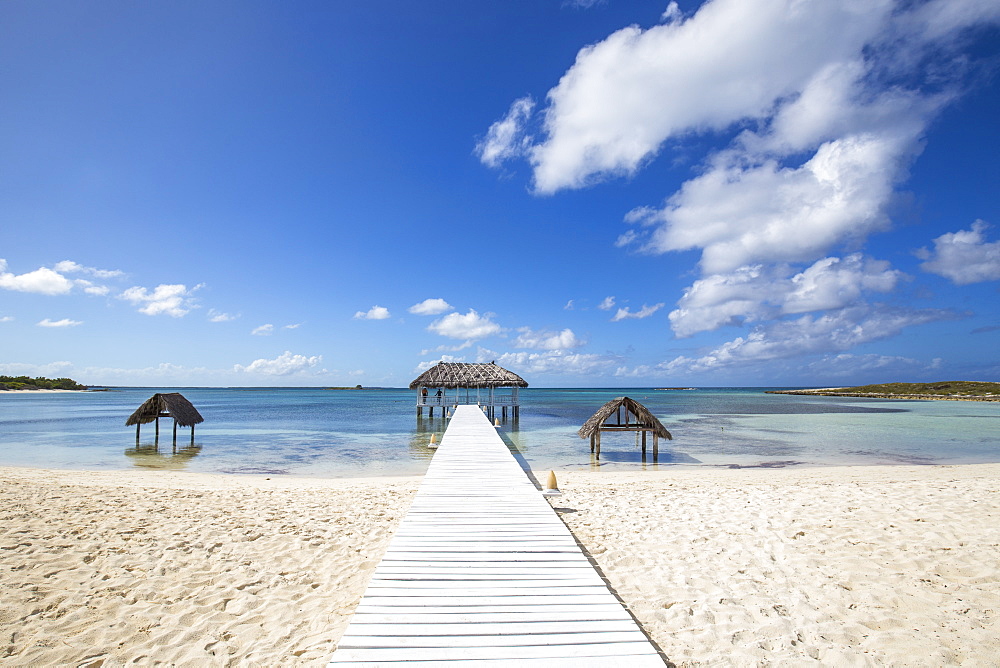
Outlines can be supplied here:
<path id="1" fill-rule="evenodd" d="M 988 227 L 977 220 L 971 229 L 942 234 L 933 251 L 918 251 L 926 260 L 920 268 L 958 285 L 1000 280 L 1000 241 L 986 241 Z"/>

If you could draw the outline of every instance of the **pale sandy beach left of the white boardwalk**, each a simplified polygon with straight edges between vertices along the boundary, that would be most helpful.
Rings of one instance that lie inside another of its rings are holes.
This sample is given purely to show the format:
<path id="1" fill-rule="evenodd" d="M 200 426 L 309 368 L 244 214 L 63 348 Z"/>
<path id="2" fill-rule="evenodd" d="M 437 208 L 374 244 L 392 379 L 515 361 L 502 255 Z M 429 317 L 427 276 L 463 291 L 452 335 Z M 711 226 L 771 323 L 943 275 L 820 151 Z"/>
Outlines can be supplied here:
<path id="1" fill-rule="evenodd" d="M 0 469 L 0 665 L 321 663 L 418 483 Z"/>

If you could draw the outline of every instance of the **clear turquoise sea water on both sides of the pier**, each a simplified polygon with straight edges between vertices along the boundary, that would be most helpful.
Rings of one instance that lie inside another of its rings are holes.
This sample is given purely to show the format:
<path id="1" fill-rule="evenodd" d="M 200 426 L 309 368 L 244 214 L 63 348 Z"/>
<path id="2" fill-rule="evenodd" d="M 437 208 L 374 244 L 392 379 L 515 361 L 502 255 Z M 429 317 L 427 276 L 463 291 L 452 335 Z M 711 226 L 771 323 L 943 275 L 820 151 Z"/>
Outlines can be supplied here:
<path id="1" fill-rule="evenodd" d="M 1000 403 L 889 401 L 766 394 L 770 388 L 534 389 L 503 433 L 533 469 L 598 465 L 577 429 L 604 402 L 630 396 L 671 431 L 659 461 L 642 461 L 633 434 L 603 437 L 602 470 L 829 464 L 1000 462 Z M 179 391 L 205 422 L 144 425 L 139 447 L 125 420 L 155 392 Z M 183 469 L 356 477 L 422 473 L 431 433 L 410 390 L 120 388 L 106 392 L 0 392 L 0 465 L 67 469 Z"/>

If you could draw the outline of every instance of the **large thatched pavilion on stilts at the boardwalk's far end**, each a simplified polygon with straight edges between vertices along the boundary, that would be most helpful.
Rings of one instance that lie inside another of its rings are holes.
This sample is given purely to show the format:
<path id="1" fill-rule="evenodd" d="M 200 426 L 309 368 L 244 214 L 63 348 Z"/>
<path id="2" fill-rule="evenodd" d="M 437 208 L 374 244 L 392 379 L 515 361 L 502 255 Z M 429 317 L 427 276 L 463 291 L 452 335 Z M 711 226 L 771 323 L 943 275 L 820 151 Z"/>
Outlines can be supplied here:
<path id="1" fill-rule="evenodd" d="M 500 406 L 504 419 L 509 406 L 516 418 L 520 409 L 518 389 L 522 387 L 528 387 L 528 383 L 496 362 L 438 362 L 410 383 L 410 389 L 417 391 L 417 417 L 423 414 L 424 406 L 434 417 L 435 406 L 444 414 L 445 406 L 476 404 L 484 406 L 491 418 Z M 500 392 L 500 388 L 510 391 Z"/>

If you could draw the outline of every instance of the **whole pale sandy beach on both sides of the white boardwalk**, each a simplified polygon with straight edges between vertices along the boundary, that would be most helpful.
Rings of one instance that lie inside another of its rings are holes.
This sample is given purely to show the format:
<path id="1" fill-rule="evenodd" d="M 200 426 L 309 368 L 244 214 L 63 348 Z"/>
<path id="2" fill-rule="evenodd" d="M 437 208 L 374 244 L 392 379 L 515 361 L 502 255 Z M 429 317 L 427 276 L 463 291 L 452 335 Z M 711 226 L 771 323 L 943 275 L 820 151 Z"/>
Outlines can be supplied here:
<path id="1" fill-rule="evenodd" d="M 0 665 L 323 662 L 418 484 L 0 469 Z M 1000 664 L 1000 465 L 560 487 L 678 665 Z"/>

